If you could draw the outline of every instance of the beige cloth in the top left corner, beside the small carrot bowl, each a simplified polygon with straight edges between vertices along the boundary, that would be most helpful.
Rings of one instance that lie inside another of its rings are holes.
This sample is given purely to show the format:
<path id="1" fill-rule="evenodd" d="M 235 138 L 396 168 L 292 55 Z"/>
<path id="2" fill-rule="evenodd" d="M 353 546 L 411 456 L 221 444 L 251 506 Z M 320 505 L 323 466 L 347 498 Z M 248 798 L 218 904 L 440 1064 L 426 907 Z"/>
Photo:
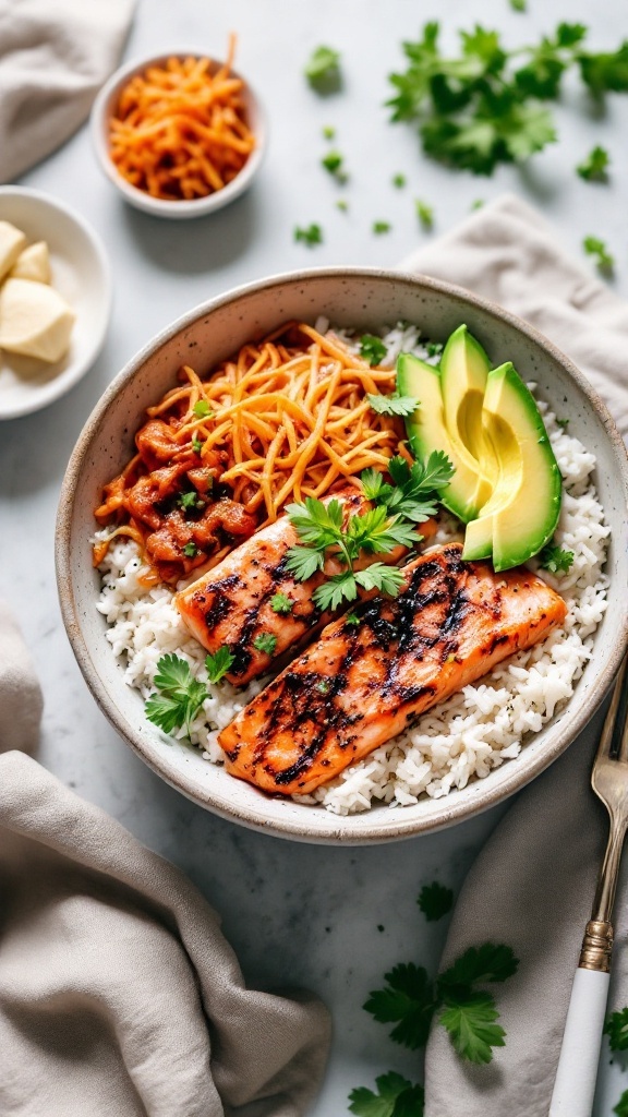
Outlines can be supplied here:
<path id="1" fill-rule="evenodd" d="M 0 182 L 83 124 L 115 69 L 135 0 L 0 0 Z"/>

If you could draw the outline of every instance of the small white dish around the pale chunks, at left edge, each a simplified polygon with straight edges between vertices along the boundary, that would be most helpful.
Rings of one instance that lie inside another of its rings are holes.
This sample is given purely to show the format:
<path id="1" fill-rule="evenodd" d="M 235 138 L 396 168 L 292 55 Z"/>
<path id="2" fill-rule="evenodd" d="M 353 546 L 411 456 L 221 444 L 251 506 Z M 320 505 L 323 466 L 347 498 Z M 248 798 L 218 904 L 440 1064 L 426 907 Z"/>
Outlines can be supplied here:
<path id="1" fill-rule="evenodd" d="M 0 419 L 17 419 L 58 400 L 92 367 L 107 332 L 112 280 L 99 238 L 63 202 L 0 187 L 0 220 L 21 229 L 29 244 L 47 241 L 53 286 L 76 314 L 69 350 L 56 364 L 0 351 Z"/>

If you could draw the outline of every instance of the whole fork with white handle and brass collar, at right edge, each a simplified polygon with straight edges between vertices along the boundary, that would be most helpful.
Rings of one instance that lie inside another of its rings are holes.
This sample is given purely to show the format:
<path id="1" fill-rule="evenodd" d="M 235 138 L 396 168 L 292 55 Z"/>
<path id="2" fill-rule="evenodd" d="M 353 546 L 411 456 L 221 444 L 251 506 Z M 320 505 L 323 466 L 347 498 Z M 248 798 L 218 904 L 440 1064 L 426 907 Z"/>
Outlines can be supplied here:
<path id="1" fill-rule="evenodd" d="M 625 657 L 591 772 L 591 786 L 609 813 L 610 832 L 573 978 L 550 1117 L 590 1117 L 596 1092 L 610 981 L 612 908 L 628 829 L 627 666 Z"/>

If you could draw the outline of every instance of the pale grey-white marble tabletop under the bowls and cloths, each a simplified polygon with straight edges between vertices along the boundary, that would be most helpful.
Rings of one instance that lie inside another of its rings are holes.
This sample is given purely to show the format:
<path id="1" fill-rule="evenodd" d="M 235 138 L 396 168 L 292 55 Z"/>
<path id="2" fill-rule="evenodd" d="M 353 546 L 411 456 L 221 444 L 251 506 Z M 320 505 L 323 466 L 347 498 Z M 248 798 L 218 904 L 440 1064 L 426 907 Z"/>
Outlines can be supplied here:
<path id="1" fill-rule="evenodd" d="M 484 26 L 507 42 L 533 41 L 560 18 L 593 22 L 591 45 L 616 47 L 625 35 L 622 6 L 570 0 L 553 18 L 529 0 L 484 0 Z M 141 0 L 125 57 L 192 46 L 222 55 L 238 32 L 237 66 L 264 99 L 270 149 L 253 190 L 211 218 L 168 222 L 126 207 L 96 166 L 86 128 L 23 176 L 87 218 L 103 237 L 115 302 L 105 350 L 86 376 L 47 411 L 0 424 L 0 592 L 15 602 L 40 674 L 46 710 L 40 761 L 85 798 L 118 818 L 142 841 L 179 865 L 223 915 L 223 927 L 251 984 L 303 984 L 334 1013 L 330 1073 L 316 1117 L 340 1117 L 349 1090 L 397 1069 L 417 1080 L 421 1060 L 387 1038 L 361 1009 L 387 968 L 415 960 L 436 966 L 446 920 L 427 925 L 416 897 L 435 877 L 457 889 L 503 808 L 432 837 L 398 846 L 334 849 L 298 846 L 213 818 L 162 783 L 117 737 L 93 701 L 66 639 L 55 588 L 54 523 L 59 486 L 75 439 L 114 374 L 155 332 L 197 303 L 238 284 L 308 265 L 392 266 L 428 236 L 413 199 L 434 204 L 431 236 L 464 217 L 475 199 L 513 190 L 537 204 L 556 235 L 580 255 L 587 233 L 608 240 L 618 260 L 616 287 L 628 294 L 626 185 L 628 98 L 613 97 L 605 115 L 591 112 L 568 83 L 556 111 L 560 143 L 524 170 L 493 179 L 453 173 L 421 155 L 412 128 L 387 123 L 386 76 L 401 63 L 400 42 L 428 18 L 445 39 L 473 22 L 464 0 Z M 302 69 L 311 49 L 342 51 L 344 89 L 321 98 Z M 348 214 L 334 206 L 339 188 L 320 166 L 321 130 L 337 130 L 351 181 Z M 582 182 L 574 165 L 596 143 L 612 153 L 612 179 Z M 391 175 L 406 174 L 396 190 Z M 392 223 L 387 236 L 373 220 Z M 324 244 L 293 241 L 295 225 L 317 221 Z M 8 588 L 10 586 L 10 590 Z M 542 1011 L 542 1006 L 540 1006 Z M 620 1085 L 603 1059 L 597 1117 L 608 1117 Z M 523 1104 L 523 1099 L 522 1099 Z M 454 1111 L 454 1108 L 453 1108 Z M 457 1111 L 457 1110 L 456 1110 Z M 523 1115 L 524 1110 L 521 1110 Z M 513 1115 L 520 1117 L 520 1115 Z"/>

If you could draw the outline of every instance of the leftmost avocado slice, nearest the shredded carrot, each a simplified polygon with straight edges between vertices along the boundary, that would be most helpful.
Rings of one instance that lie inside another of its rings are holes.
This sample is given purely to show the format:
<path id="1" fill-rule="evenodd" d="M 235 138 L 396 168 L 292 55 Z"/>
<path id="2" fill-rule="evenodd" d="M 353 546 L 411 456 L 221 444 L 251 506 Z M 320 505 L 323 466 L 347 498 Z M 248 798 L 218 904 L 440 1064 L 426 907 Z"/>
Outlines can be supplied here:
<path id="1" fill-rule="evenodd" d="M 466 524 L 477 516 L 480 507 L 477 462 L 470 454 L 462 455 L 458 443 L 449 437 L 440 371 L 411 353 L 401 353 L 397 361 L 397 391 L 400 395 L 413 395 L 420 401 L 417 410 L 406 419 L 410 449 L 416 458 L 427 458 L 434 450 L 445 451 L 456 471 L 439 497 L 445 507 Z M 484 495 L 484 500 L 488 495 L 489 491 Z"/>

